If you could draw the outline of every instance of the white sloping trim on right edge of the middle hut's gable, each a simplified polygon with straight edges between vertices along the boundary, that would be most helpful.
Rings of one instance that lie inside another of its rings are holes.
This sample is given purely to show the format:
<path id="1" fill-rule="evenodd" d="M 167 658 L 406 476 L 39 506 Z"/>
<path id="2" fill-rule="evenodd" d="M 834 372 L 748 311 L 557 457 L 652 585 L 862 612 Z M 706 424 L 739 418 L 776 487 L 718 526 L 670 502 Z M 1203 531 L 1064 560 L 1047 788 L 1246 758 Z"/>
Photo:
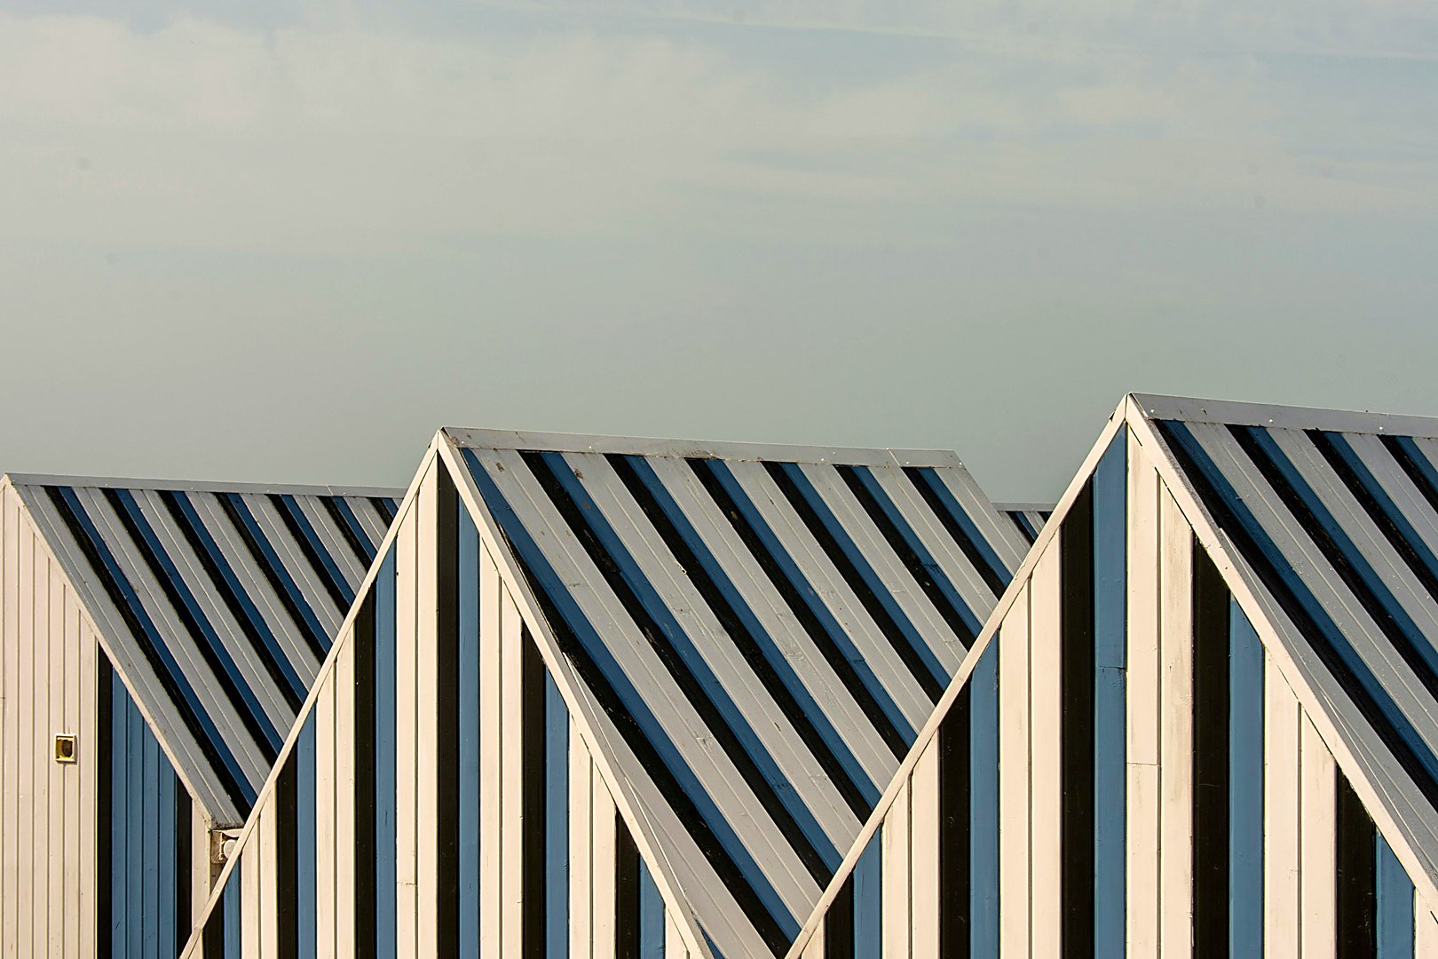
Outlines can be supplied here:
<path id="1" fill-rule="evenodd" d="M 475 525 L 479 528 L 483 546 L 489 549 L 490 556 L 495 559 L 505 587 L 508 587 L 513 597 L 515 605 L 519 607 L 519 615 L 523 618 L 525 625 L 529 627 L 535 646 L 539 647 L 545 667 L 548 667 L 555 686 L 559 689 L 559 694 L 564 696 L 565 703 L 569 706 L 569 713 L 580 732 L 580 738 L 590 751 L 594 768 L 608 786 L 610 795 L 614 798 L 614 805 L 628 824 L 636 848 L 650 864 L 654 884 L 664 899 L 664 907 L 674 919 L 674 924 L 684 940 L 684 947 L 690 956 L 713 959 L 707 940 L 700 935 L 697 919 L 690 912 L 687 901 L 679 896 L 679 890 L 670 876 L 669 861 L 659 855 L 654 841 L 649 835 L 649 820 L 638 815 L 640 807 L 630 795 L 627 781 L 618 775 L 618 771 L 613 765 L 608 742 L 598 735 L 598 705 L 582 692 L 584 687 L 574 674 L 574 667 L 559 653 L 559 644 L 551 634 L 548 621 L 539 615 L 539 604 L 535 601 L 529 584 L 519 572 L 519 565 L 509 551 L 509 543 L 499 532 L 499 523 L 485 505 L 485 499 L 480 496 L 469 467 L 460 462 L 456 451 L 459 444 L 453 443 L 453 437 L 449 436 L 447 430 L 441 430 L 436 436 L 436 443 L 440 443 L 441 439 L 449 439 L 450 443 L 440 444 L 439 459 L 447 464 L 452 477 L 454 477 L 454 487 L 464 502 L 466 509 L 470 510 L 470 516 L 476 520 Z"/>

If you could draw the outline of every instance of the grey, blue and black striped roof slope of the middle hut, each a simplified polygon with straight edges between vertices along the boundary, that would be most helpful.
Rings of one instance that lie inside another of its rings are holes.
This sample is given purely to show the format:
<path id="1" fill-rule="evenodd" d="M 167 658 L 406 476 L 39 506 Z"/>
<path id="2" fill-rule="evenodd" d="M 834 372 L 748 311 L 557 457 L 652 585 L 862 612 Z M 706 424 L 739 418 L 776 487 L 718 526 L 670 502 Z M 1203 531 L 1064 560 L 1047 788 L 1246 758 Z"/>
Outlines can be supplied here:
<path id="1" fill-rule="evenodd" d="M 782 953 L 1021 525 L 949 453 L 446 433 L 702 930 Z"/>

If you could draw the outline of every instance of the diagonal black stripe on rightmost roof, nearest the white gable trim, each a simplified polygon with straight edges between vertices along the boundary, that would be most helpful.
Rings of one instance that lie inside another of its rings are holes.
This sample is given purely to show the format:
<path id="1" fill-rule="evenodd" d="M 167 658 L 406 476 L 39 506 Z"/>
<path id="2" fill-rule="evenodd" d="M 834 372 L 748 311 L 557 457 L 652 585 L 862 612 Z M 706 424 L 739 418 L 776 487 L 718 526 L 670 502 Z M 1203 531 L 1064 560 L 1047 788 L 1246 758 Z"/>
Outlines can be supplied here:
<path id="1" fill-rule="evenodd" d="M 1343 661 L 1343 654 L 1333 646 L 1333 638 L 1309 614 L 1303 601 L 1288 585 L 1284 574 L 1267 558 L 1254 533 L 1238 518 L 1238 513 L 1228 503 L 1225 495 L 1215 489 L 1212 480 L 1194 459 L 1194 453 L 1188 449 L 1185 439 L 1179 436 L 1169 421 L 1160 420 L 1158 426 L 1168 441 L 1169 450 L 1178 459 L 1194 489 L 1198 492 L 1204 508 L 1218 522 L 1218 528 L 1234 541 L 1242 555 L 1252 558 L 1254 572 L 1258 574 L 1264 588 L 1278 602 L 1284 615 L 1303 634 L 1310 648 L 1323 661 L 1324 669 L 1329 670 L 1329 674 L 1343 689 L 1353 706 L 1357 707 L 1369 728 L 1383 740 L 1383 745 L 1403 768 L 1403 772 L 1408 774 L 1414 785 L 1424 794 L 1424 798 L 1431 805 L 1438 807 L 1438 784 L 1428 774 L 1426 763 L 1398 729 L 1393 728 L 1393 723 L 1388 719 L 1383 707 L 1373 694 L 1349 670 Z"/>

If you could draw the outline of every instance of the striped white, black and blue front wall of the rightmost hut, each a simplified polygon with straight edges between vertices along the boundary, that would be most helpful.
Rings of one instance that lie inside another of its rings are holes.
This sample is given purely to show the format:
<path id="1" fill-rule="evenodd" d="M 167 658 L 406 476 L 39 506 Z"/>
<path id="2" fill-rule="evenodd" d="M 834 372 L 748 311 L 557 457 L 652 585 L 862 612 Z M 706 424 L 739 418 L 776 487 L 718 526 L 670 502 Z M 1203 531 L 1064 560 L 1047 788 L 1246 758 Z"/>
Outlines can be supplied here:
<path id="1" fill-rule="evenodd" d="M 791 955 L 1438 956 L 1432 907 L 1196 545 L 1156 447 L 1110 436 L 866 831 L 881 947 L 834 936 L 856 927 L 870 851 Z"/>

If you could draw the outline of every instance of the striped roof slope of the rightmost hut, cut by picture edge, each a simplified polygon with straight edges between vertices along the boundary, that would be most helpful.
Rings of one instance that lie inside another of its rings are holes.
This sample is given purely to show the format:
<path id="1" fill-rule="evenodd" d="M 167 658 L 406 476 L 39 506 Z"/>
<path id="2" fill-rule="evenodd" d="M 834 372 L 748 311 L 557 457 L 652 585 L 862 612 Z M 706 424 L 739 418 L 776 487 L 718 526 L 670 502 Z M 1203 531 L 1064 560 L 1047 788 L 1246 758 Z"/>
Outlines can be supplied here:
<path id="1" fill-rule="evenodd" d="M 1135 401 L 1438 874 L 1438 420 Z"/>

